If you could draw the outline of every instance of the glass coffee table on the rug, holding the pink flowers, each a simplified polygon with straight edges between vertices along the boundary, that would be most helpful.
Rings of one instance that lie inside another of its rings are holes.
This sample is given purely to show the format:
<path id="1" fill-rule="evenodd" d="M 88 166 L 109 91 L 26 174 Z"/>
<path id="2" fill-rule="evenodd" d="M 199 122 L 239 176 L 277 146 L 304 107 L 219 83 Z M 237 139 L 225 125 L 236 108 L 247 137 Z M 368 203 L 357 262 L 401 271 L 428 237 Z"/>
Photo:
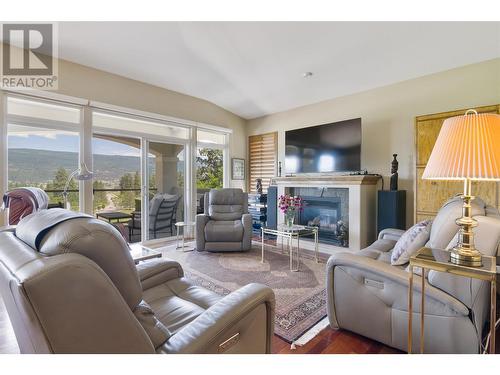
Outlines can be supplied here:
<path id="1" fill-rule="evenodd" d="M 271 234 L 281 237 L 281 252 L 284 251 L 283 239 L 287 239 L 288 254 L 290 256 L 290 271 L 298 272 L 300 268 L 300 237 L 313 236 L 314 238 L 314 255 L 316 263 L 319 262 L 318 257 L 318 227 L 308 227 L 304 225 L 292 225 L 291 227 L 285 224 L 279 224 L 276 229 L 262 227 L 261 228 L 261 247 L 262 258 L 264 263 L 264 235 Z M 294 251 L 293 242 L 297 240 L 297 247 Z"/>

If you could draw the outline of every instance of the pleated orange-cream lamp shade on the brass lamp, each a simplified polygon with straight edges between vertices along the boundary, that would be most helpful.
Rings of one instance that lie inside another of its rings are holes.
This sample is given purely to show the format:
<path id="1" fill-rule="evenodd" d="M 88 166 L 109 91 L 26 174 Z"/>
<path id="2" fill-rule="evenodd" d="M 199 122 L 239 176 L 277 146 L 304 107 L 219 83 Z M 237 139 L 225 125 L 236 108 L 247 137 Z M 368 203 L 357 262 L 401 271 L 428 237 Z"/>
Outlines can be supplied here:
<path id="1" fill-rule="evenodd" d="M 500 180 L 500 115 L 467 111 L 445 120 L 422 178 Z"/>

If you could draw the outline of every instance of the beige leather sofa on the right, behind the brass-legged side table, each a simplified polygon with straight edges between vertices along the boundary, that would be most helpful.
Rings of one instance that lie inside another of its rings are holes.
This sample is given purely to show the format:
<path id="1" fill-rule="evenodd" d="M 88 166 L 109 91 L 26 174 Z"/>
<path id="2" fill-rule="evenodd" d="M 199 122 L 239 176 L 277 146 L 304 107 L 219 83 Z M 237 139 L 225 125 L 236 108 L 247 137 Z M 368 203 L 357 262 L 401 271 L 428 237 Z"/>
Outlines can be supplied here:
<path id="1" fill-rule="evenodd" d="M 496 255 L 500 242 L 500 214 L 480 199 L 473 201 L 476 247 Z M 431 227 L 426 246 L 450 248 L 457 242 L 455 219 L 461 216 L 460 198 L 448 201 Z M 339 253 L 327 263 L 328 318 L 343 328 L 407 351 L 408 272 L 392 266 L 391 252 L 401 230 L 383 230 L 377 241 L 358 253 Z M 425 351 L 477 353 L 489 313 L 489 283 L 430 271 L 425 286 Z M 420 345 L 420 276 L 414 279 L 413 348 Z"/>

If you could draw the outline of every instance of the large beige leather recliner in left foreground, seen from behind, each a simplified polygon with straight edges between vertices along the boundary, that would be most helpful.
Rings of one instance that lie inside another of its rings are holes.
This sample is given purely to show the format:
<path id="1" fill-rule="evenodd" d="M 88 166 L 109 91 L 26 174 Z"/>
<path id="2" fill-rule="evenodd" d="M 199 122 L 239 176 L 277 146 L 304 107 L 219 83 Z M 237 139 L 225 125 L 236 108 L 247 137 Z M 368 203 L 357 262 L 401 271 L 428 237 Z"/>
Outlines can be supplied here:
<path id="1" fill-rule="evenodd" d="M 64 211 L 0 233 L 0 291 L 22 353 L 271 352 L 271 289 L 221 297 L 175 261 L 136 267 L 115 228 Z"/>

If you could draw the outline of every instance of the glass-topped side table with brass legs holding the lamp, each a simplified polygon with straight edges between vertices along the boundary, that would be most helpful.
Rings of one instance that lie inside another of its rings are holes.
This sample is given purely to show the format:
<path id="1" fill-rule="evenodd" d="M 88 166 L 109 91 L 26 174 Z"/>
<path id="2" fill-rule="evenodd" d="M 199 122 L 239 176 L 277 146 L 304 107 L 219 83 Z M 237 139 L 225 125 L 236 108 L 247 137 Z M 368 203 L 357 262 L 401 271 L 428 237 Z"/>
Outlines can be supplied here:
<path id="1" fill-rule="evenodd" d="M 450 252 L 447 250 L 431 249 L 423 247 L 410 257 L 409 286 L 408 286 L 408 353 L 412 352 L 412 328 L 413 328 L 413 268 L 422 268 L 422 292 L 420 301 L 420 353 L 424 352 L 424 320 L 425 320 L 425 270 L 446 272 L 457 276 L 470 277 L 488 281 L 491 284 L 491 307 L 490 307 L 490 354 L 495 353 L 495 323 L 496 323 L 496 257 L 481 256 L 481 267 L 461 266 L 450 263 Z"/>

